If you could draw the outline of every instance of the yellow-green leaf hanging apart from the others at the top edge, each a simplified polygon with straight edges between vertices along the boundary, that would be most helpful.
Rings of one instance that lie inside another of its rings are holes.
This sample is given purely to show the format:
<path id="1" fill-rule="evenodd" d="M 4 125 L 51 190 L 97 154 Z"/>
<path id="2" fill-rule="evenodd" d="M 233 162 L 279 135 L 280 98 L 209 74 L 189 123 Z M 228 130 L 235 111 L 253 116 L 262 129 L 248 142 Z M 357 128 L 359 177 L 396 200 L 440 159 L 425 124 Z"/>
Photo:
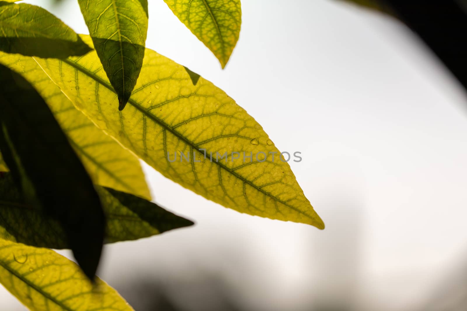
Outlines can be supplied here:
<path id="1" fill-rule="evenodd" d="M 240 35 L 240 0 L 164 0 L 178 19 L 208 47 L 222 68 Z"/>

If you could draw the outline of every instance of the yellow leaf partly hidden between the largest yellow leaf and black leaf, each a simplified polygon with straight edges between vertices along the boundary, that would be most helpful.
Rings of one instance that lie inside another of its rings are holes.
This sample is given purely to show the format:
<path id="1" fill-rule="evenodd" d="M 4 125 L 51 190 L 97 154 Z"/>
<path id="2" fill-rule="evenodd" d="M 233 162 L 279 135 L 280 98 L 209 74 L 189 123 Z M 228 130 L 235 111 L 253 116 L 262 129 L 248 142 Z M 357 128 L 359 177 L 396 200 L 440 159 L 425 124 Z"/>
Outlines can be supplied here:
<path id="1" fill-rule="evenodd" d="M 134 154 L 78 111 L 32 57 L 0 52 L 0 63 L 21 73 L 45 99 L 95 184 L 151 199 Z"/>

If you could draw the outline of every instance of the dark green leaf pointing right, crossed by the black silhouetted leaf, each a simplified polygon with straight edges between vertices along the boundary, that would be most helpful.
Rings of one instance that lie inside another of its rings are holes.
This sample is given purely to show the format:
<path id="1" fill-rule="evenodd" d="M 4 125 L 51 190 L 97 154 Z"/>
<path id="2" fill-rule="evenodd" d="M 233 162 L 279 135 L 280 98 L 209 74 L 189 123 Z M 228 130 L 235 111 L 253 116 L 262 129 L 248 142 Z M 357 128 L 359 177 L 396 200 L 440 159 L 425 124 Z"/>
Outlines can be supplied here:
<path id="1" fill-rule="evenodd" d="M 68 249 L 64 230 L 40 208 L 28 204 L 11 173 L 0 175 L 0 238 L 35 247 Z M 191 226 L 192 221 L 131 194 L 96 186 L 106 214 L 106 242 L 136 240 Z"/>

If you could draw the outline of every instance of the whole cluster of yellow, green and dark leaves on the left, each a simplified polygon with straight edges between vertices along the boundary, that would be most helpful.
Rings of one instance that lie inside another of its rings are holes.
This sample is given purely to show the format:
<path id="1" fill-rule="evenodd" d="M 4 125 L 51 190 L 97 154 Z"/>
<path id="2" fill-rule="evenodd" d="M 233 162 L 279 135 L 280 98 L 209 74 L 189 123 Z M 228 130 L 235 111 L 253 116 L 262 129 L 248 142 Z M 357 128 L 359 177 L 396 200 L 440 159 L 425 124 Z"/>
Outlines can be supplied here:
<path id="1" fill-rule="evenodd" d="M 0 283 L 28 308 L 132 310 L 95 276 L 103 243 L 193 224 L 149 201 L 139 159 L 225 207 L 324 228 L 255 119 L 145 47 L 147 0 L 78 0 L 90 35 L 14 2 L 0 1 Z M 165 2 L 224 68 L 240 0 Z M 79 266 L 50 250 L 67 248 Z"/>

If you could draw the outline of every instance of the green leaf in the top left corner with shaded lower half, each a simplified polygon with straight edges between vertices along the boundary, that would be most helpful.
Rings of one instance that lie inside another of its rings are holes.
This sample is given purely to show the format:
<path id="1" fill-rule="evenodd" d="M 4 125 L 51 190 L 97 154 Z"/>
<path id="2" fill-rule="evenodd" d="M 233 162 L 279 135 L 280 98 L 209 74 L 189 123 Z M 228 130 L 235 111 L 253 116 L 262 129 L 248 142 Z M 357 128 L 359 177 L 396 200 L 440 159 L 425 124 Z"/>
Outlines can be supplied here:
<path id="1" fill-rule="evenodd" d="M 65 58 L 91 50 L 79 36 L 42 7 L 0 1 L 0 50 Z"/>

